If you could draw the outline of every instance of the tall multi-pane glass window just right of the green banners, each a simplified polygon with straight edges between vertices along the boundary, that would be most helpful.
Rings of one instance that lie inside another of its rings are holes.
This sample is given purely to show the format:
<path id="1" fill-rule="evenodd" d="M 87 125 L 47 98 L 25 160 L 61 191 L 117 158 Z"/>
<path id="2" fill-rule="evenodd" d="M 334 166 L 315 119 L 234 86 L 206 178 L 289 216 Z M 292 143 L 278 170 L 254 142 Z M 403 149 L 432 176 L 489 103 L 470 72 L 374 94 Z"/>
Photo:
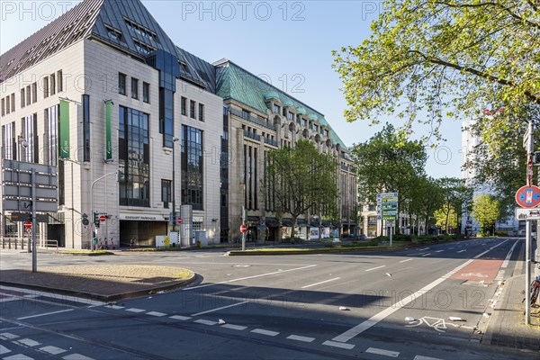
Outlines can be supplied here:
<path id="1" fill-rule="evenodd" d="M 150 206 L 148 114 L 119 107 L 120 204 Z"/>

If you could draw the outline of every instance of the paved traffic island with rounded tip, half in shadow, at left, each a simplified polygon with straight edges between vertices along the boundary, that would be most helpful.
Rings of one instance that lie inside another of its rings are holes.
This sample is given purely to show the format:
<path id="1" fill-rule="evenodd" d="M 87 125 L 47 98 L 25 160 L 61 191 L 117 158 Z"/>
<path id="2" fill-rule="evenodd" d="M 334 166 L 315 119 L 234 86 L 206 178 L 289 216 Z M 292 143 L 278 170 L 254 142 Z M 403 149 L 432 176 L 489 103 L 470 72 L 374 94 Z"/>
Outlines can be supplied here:
<path id="1" fill-rule="evenodd" d="M 60 293 L 101 302 L 136 298 L 183 287 L 195 274 L 183 267 L 90 265 L 3 270 L 0 284 Z"/>

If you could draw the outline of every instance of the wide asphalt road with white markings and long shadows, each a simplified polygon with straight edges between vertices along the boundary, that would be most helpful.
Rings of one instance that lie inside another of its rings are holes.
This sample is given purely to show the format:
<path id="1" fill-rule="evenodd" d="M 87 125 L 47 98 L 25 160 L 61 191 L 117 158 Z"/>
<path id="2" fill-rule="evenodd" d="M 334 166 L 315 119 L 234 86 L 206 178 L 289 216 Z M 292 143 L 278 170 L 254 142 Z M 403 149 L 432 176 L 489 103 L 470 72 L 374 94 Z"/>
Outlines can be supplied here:
<path id="1" fill-rule="evenodd" d="M 536 359 L 480 343 L 523 246 L 481 238 L 363 254 L 40 253 L 39 266 L 183 266 L 202 279 L 113 305 L 19 293 L 0 302 L 0 358 Z M 29 268 L 25 259 L 2 254 L 1 268 Z"/>

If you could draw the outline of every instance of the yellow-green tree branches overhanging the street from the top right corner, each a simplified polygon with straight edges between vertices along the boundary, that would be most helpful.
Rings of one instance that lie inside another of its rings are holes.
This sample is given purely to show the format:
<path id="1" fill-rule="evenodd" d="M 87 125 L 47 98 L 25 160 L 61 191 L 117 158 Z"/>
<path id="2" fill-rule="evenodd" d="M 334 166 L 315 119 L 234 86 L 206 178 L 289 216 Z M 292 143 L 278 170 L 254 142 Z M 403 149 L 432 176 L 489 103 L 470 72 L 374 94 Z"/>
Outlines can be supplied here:
<path id="1" fill-rule="evenodd" d="M 540 105 L 540 1 L 385 0 L 383 8 L 368 39 L 334 51 L 347 121 L 397 113 L 405 134 L 419 121 L 440 138 L 445 117 L 504 106 L 509 117 L 495 121 L 509 129 L 522 121 L 508 122 L 510 114 Z"/>

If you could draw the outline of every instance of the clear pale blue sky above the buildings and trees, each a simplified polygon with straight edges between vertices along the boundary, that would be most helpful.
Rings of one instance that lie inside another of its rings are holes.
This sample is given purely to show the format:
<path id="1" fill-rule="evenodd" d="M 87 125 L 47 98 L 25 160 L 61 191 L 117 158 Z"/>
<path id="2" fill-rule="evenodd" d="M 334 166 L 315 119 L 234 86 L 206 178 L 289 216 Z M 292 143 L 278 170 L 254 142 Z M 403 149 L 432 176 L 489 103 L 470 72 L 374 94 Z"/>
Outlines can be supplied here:
<path id="1" fill-rule="evenodd" d="M 0 53 L 73 8 L 78 1 L 0 0 Z M 369 140 L 392 116 L 349 123 L 342 83 L 332 69 L 332 50 L 357 46 L 383 10 L 380 1 L 179 1 L 143 0 L 177 46 L 214 62 L 244 67 L 323 113 L 347 146 Z M 418 128 L 417 137 L 428 135 Z M 442 127 L 446 142 L 427 148 L 433 177 L 461 176 L 461 121 Z"/>

